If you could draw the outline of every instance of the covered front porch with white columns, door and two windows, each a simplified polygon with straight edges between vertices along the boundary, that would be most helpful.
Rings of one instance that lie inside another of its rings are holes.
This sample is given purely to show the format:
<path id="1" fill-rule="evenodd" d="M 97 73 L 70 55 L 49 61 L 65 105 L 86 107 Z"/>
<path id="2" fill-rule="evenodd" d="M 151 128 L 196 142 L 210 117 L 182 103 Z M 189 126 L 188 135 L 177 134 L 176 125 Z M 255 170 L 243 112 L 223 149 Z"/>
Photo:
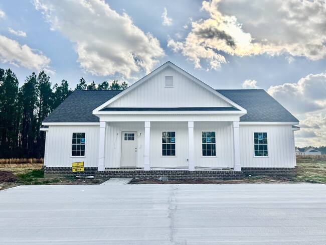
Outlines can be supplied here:
<path id="1" fill-rule="evenodd" d="M 239 121 L 101 121 L 98 171 L 241 171 Z"/>

